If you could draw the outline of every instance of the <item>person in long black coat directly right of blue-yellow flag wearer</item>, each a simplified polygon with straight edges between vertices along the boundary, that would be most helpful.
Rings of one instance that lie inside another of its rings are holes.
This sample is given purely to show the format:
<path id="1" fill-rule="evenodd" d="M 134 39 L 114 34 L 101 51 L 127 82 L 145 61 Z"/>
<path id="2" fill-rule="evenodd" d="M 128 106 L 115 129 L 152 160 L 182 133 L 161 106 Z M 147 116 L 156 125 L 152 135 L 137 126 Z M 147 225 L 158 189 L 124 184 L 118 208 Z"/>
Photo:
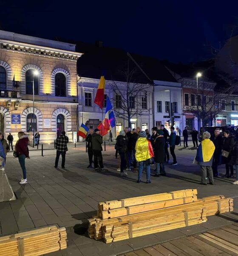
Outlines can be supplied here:
<path id="1" fill-rule="evenodd" d="M 223 139 L 220 134 L 220 129 L 215 129 L 214 135 L 211 137 L 211 141 L 215 145 L 215 151 L 212 160 L 212 172 L 213 177 L 218 176 L 218 165 L 221 165 L 221 150 L 223 146 Z"/>

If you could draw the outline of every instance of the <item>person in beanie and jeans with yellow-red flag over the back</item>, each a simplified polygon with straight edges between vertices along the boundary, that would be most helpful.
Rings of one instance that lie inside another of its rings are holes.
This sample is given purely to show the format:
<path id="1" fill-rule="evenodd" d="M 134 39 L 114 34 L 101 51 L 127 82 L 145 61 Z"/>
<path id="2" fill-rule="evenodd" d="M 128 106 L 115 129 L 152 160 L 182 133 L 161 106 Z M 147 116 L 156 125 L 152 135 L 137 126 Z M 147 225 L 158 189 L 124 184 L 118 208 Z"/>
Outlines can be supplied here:
<path id="1" fill-rule="evenodd" d="M 146 167 L 146 183 L 150 181 L 150 158 L 154 157 L 153 148 L 150 140 L 147 140 L 146 132 L 140 131 L 138 140 L 136 141 L 136 161 L 139 162 L 138 180 L 141 182 L 143 166 Z"/>

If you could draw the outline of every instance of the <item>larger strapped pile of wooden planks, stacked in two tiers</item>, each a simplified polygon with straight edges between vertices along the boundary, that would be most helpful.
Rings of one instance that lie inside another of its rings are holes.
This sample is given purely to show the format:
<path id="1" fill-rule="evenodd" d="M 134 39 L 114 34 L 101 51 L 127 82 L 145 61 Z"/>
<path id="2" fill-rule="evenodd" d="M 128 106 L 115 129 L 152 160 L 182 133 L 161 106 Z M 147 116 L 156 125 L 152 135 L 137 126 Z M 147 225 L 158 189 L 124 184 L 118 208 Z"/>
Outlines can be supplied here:
<path id="1" fill-rule="evenodd" d="M 207 216 L 233 210 L 231 198 L 196 195 L 196 189 L 186 189 L 99 203 L 97 216 L 89 219 L 88 235 L 109 243 L 200 224 Z"/>

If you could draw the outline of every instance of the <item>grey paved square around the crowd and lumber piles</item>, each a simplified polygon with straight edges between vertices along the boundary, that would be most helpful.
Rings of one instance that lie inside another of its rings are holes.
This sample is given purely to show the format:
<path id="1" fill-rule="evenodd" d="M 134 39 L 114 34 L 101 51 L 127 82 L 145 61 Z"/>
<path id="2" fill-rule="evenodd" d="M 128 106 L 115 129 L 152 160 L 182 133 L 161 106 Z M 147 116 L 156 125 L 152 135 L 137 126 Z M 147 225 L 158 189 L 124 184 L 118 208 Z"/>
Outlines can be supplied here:
<path id="1" fill-rule="evenodd" d="M 213 186 L 200 185 L 199 166 L 192 164 L 195 150 L 177 147 L 178 165 L 166 165 L 166 177 L 151 177 L 152 183 L 146 184 L 143 174 L 143 182 L 138 184 L 137 175 L 133 172 L 128 172 L 127 177 L 121 177 L 116 171 L 119 160 L 115 158 L 113 145 L 107 145 L 107 151 L 103 151 L 107 172 L 86 168 L 88 154 L 85 153 L 85 144 L 77 144 L 77 148 L 71 144 L 69 148 L 65 169 L 54 168 L 54 149 L 44 151 L 44 157 L 40 151 L 30 151 L 31 159 L 26 160 L 26 185 L 18 183 L 22 177 L 20 165 L 17 159 L 13 159 L 11 152 L 8 154 L 6 173 L 17 200 L 0 203 L 0 235 L 55 224 L 67 228 L 68 248 L 48 255 L 111 256 L 204 232 L 238 220 L 238 186 L 232 185 L 233 180 L 220 177 L 215 178 Z M 225 172 L 224 166 L 219 170 Z M 153 171 L 151 175 L 154 175 Z M 87 219 L 96 214 L 98 202 L 180 189 L 198 189 L 198 198 L 210 195 L 232 197 L 234 212 L 211 216 L 206 223 L 200 225 L 112 244 L 86 236 Z"/>

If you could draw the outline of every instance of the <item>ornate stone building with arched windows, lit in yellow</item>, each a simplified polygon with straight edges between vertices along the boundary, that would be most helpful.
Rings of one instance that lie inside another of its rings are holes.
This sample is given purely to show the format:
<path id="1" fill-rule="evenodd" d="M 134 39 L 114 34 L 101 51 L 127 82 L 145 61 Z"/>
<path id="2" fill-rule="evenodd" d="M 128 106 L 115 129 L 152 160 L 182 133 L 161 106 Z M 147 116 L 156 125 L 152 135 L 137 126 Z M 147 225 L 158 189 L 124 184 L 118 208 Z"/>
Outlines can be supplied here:
<path id="1" fill-rule="evenodd" d="M 61 131 L 77 139 L 81 55 L 72 44 L 0 31 L 0 131 L 5 137 L 11 132 L 16 142 L 17 132 L 24 131 L 32 140 L 35 130 L 40 143 L 54 142 Z"/>

